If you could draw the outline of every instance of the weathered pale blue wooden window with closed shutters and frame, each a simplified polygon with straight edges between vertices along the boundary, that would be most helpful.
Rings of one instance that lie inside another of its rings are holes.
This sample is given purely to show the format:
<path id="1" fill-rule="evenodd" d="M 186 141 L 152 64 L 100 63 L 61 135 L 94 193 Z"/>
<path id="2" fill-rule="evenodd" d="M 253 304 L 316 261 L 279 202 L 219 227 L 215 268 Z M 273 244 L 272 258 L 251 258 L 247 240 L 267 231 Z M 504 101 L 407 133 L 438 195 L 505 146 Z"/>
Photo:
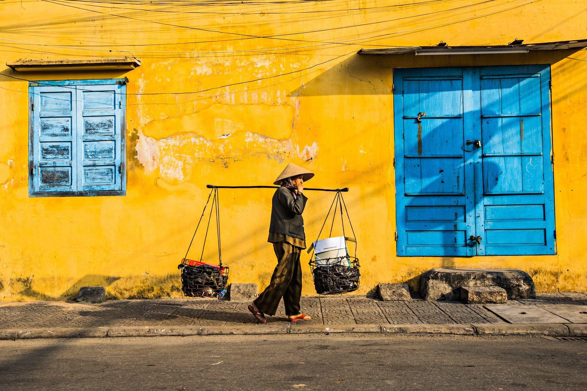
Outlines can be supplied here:
<path id="1" fill-rule="evenodd" d="M 126 85 L 31 83 L 29 195 L 124 195 Z"/>

